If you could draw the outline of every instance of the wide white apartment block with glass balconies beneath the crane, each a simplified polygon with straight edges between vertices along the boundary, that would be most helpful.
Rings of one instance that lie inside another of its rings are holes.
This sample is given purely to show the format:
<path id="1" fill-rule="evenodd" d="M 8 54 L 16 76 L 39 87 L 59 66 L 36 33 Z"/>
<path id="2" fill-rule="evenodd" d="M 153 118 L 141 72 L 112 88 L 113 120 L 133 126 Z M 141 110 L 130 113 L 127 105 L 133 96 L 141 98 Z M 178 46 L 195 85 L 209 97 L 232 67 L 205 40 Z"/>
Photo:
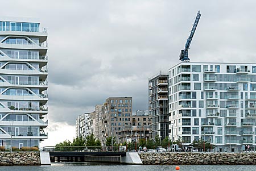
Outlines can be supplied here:
<path id="1" fill-rule="evenodd" d="M 256 64 L 181 62 L 169 69 L 169 82 L 174 140 L 202 138 L 215 151 L 256 145 Z"/>

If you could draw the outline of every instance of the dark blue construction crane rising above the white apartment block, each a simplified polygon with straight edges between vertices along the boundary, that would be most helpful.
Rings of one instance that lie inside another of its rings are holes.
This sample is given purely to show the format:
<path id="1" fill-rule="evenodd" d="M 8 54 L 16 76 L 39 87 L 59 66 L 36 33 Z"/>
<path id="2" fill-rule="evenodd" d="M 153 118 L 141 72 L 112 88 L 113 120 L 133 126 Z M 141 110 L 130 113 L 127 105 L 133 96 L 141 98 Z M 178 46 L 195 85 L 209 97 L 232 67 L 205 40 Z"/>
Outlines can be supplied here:
<path id="1" fill-rule="evenodd" d="M 181 50 L 181 52 L 180 52 L 180 60 L 182 62 L 189 62 L 190 61 L 190 59 L 188 57 L 188 49 L 189 49 L 189 45 L 191 44 L 193 35 L 195 34 L 196 27 L 197 27 L 197 24 L 199 22 L 200 16 L 201 16 L 200 11 L 198 11 L 197 15 L 196 15 L 196 20 L 195 20 L 195 22 L 193 24 L 193 28 L 192 28 L 191 33 L 190 33 L 190 35 L 189 35 L 189 37 L 187 39 L 187 42 L 185 44 L 185 49 Z"/>

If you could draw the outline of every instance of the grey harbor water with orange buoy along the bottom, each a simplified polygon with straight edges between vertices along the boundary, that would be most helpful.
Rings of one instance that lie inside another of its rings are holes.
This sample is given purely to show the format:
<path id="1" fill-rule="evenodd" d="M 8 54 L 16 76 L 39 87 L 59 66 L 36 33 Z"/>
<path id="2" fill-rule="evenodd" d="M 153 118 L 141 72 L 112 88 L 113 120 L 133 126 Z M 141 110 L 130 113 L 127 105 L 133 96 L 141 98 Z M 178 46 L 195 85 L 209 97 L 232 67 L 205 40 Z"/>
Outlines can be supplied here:
<path id="1" fill-rule="evenodd" d="M 99 163 L 53 163 L 51 166 L 0 166 L 12 171 L 172 171 L 176 165 L 119 165 Z M 180 165 L 180 171 L 254 171 L 256 165 Z"/>

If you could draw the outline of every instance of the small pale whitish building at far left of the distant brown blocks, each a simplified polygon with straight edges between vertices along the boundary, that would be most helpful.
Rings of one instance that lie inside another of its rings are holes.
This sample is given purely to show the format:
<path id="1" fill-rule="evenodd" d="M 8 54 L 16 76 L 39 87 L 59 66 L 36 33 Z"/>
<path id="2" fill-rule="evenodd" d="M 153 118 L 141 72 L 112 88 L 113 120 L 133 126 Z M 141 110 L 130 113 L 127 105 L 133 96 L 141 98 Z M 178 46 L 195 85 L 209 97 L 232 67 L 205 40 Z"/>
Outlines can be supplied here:
<path id="1" fill-rule="evenodd" d="M 90 134 L 89 113 L 81 114 L 76 118 L 76 137 L 83 137 Z"/>

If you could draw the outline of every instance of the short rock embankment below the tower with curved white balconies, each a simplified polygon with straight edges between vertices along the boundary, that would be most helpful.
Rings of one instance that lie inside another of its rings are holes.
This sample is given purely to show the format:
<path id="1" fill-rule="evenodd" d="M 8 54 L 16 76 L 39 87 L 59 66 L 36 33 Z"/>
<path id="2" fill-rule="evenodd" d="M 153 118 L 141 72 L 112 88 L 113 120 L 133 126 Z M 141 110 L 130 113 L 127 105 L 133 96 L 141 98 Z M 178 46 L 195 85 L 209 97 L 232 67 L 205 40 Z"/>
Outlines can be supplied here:
<path id="1" fill-rule="evenodd" d="M 0 165 L 40 165 L 39 152 L 1 152 Z"/>

